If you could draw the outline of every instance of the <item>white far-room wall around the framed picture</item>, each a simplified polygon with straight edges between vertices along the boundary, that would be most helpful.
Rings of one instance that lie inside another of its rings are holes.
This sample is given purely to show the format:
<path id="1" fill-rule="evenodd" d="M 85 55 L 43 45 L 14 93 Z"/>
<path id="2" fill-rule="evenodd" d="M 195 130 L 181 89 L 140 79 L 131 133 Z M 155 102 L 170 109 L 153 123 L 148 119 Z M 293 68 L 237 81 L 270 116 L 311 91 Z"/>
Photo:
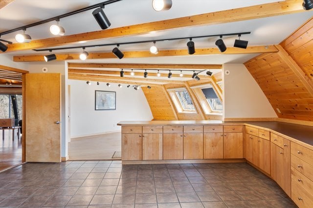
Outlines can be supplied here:
<path id="1" fill-rule="evenodd" d="M 70 134 L 71 138 L 100 134 L 104 132 L 120 131 L 116 126 L 119 121 L 147 121 L 153 116 L 142 90 L 135 91 L 123 84 L 119 88 L 117 83 L 68 80 L 70 85 Z M 95 90 L 116 92 L 116 110 L 95 111 Z"/>

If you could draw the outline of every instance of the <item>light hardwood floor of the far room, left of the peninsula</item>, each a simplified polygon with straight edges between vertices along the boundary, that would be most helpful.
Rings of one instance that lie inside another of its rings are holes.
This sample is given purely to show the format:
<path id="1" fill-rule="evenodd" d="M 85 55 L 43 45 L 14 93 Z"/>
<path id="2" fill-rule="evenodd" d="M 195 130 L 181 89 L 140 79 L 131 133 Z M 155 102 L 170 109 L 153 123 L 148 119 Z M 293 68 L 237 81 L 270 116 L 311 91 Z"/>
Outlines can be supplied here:
<path id="1" fill-rule="evenodd" d="M 69 160 L 113 160 L 114 151 L 121 151 L 121 132 L 71 139 Z"/>

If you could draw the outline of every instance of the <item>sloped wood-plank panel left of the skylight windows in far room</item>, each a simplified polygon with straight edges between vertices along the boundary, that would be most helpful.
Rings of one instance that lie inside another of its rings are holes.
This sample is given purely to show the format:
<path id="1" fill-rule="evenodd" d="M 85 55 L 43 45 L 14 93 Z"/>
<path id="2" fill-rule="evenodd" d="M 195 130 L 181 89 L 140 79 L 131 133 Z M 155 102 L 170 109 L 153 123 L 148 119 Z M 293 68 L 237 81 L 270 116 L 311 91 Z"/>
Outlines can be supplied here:
<path id="1" fill-rule="evenodd" d="M 142 88 L 150 106 L 154 120 L 177 120 L 171 104 L 163 91 L 163 86 Z"/>

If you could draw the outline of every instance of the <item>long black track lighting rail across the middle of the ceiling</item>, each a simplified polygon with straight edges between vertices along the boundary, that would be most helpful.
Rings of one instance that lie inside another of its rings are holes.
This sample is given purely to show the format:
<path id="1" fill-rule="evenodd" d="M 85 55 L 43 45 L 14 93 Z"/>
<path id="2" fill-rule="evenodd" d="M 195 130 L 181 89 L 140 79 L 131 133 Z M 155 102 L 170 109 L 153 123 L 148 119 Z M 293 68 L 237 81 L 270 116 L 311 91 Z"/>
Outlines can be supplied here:
<path id="1" fill-rule="evenodd" d="M 102 46 L 112 46 L 112 45 L 127 45 L 127 44 L 138 44 L 138 43 L 148 43 L 148 42 L 161 42 L 169 40 L 180 40 L 180 39 L 190 39 L 190 38 L 208 38 L 208 37 L 220 37 L 220 36 L 241 36 L 251 34 L 251 32 L 243 33 L 227 33 L 227 34 L 217 34 L 217 35 L 207 35 L 207 36 L 195 36 L 195 37 L 183 37 L 183 38 L 167 38 L 167 39 L 156 39 L 156 40 L 145 40 L 145 41 L 134 41 L 134 42 L 123 42 L 123 43 L 108 43 L 100 45 L 87 45 L 87 46 L 73 46 L 73 47 L 63 47 L 63 48 L 50 48 L 50 49 L 33 49 L 33 51 L 57 51 L 57 50 L 67 50 L 75 48 L 92 48 L 92 47 L 102 47 Z"/>

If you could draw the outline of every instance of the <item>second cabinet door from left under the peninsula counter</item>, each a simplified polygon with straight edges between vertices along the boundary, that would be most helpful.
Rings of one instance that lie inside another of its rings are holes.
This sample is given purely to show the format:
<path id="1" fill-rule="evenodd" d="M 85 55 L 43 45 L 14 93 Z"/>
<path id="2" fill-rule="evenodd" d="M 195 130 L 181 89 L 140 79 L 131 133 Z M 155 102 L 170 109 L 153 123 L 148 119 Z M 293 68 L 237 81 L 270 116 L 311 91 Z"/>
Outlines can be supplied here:
<path id="1" fill-rule="evenodd" d="M 163 143 L 162 133 L 143 133 L 142 134 L 142 159 L 143 160 L 162 160 Z"/>

